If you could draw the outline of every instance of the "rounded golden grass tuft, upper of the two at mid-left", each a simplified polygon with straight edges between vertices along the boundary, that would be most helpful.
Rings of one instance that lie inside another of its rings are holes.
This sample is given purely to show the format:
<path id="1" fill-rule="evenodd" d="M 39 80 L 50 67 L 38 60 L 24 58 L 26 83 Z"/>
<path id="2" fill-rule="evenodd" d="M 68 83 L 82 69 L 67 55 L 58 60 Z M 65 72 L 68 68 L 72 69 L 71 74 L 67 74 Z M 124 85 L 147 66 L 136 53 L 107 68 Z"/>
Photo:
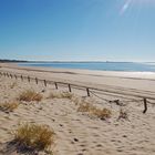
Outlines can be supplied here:
<path id="1" fill-rule="evenodd" d="M 20 94 L 19 101 L 25 101 L 25 102 L 38 101 L 39 102 L 42 100 L 42 97 L 43 97 L 42 94 L 28 90 Z"/>

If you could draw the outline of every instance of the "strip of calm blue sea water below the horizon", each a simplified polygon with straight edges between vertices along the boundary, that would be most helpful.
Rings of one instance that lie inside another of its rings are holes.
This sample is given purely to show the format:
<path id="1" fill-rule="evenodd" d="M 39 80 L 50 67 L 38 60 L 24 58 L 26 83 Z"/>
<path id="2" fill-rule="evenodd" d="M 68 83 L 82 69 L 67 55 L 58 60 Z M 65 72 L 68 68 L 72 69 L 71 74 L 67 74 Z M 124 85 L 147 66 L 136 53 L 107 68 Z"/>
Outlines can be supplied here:
<path id="1" fill-rule="evenodd" d="M 100 71 L 155 72 L 155 63 L 134 62 L 28 62 L 19 63 L 19 65 Z"/>

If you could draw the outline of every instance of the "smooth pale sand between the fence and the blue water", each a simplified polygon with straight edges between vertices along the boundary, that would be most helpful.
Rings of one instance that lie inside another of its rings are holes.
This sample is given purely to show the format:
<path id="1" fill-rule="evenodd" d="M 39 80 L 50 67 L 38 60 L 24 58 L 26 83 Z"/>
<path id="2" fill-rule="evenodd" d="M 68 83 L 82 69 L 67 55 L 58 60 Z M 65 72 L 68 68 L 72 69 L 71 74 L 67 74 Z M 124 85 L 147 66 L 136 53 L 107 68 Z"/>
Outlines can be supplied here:
<path id="1" fill-rule="evenodd" d="M 0 64 L 0 71 L 8 71 L 18 74 L 25 74 L 53 80 L 58 82 L 69 82 L 73 84 L 86 84 L 95 87 L 124 87 L 140 91 L 155 92 L 155 73 L 153 72 L 115 72 L 115 71 L 92 71 L 79 69 L 54 69 L 37 66 L 19 66 L 18 64 Z"/>

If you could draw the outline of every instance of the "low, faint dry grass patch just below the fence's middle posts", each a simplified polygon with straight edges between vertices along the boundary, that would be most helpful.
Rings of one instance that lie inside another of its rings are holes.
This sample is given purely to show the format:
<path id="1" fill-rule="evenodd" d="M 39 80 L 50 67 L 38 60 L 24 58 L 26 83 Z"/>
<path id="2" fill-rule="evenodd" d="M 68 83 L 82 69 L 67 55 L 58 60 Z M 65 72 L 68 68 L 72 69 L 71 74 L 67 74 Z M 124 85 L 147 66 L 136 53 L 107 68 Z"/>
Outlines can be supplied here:
<path id="1" fill-rule="evenodd" d="M 73 94 L 70 92 L 51 92 L 48 99 L 69 99 L 73 97 Z"/>

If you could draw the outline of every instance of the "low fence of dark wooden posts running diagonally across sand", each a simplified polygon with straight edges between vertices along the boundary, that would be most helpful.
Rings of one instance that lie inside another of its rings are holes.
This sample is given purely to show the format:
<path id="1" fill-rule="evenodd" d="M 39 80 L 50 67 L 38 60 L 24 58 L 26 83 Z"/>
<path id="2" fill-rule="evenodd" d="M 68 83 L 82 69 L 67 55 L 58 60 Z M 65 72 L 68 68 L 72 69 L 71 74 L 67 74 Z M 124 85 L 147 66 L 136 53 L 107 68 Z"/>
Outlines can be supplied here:
<path id="1" fill-rule="evenodd" d="M 89 86 L 85 86 L 85 85 L 79 85 L 79 84 L 71 84 L 71 83 L 64 83 L 64 82 L 56 82 L 56 81 L 51 81 L 51 80 L 44 80 L 44 79 L 39 79 L 39 78 L 33 78 L 33 76 L 29 76 L 29 75 L 22 75 L 22 74 L 12 74 L 12 73 L 9 73 L 9 72 L 1 72 L 0 71 L 0 75 L 1 76 L 6 76 L 6 78 L 11 78 L 11 79 L 20 79 L 21 81 L 23 80 L 28 80 L 28 82 L 30 83 L 31 80 L 35 81 L 35 84 L 39 84 L 39 82 L 43 82 L 44 86 L 48 86 L 48 84 L 53 84 L 55 86 L 55 89 L 58 90 L 59 89 L 59 84 L 62 84 L 62 85 L 65 85 L 68 86 L 69 89 L 69 92 L 72 92 L 72 87 L 73 89 L 78 89 L 78 90 L 85 90 L 86 91 L 86 94 L 87 96 L 91 96 L 92 95 L 95 95 L 96 97 L 100 97 L 108 103 L 116 103 L 116 104 L 120 104 L 120 100 L 113 100 L 113 101 L 110 101 L 110 100 L 106 100 L 106 99 L 103 99 L 101 96 L 99 96 L 96 93 L 114 93 L 114 94 L 120 94 L 120 95 L 126 95 L 126 96 L 133 96 L 133 97 L 137 97 L 138 100 L 130 100 L 130 101 L 124 101 L 124 102 L 140 102 L 140 101 L 143 101 L 143 104 L 144 104 L 144 110 L 143 110 L 143 113 L 146 113 L 147 111 L 147 104 L 154 104 L 152 102 L 149 102 L 149 100 L 152 101 L 155 101 L 155 97 L 152 97 L 152 96 L 143 96 L 141 94 L 133 94 L 133 93 L 125 93 L 125 92 L 116 92 L 116 91 L 108 91 L 108 90 L 103 90 L 103 89 L 95 89 L 95 87 L 89 87 Z M 97 92 L 93 92 L 93 91 L 97 91 Z M 115 95 L 117 96 L 117 95 Z M 123 102 L 123 101 L 122 101 Z M 155 104 L 154 104 L 155 105 Z"/>

